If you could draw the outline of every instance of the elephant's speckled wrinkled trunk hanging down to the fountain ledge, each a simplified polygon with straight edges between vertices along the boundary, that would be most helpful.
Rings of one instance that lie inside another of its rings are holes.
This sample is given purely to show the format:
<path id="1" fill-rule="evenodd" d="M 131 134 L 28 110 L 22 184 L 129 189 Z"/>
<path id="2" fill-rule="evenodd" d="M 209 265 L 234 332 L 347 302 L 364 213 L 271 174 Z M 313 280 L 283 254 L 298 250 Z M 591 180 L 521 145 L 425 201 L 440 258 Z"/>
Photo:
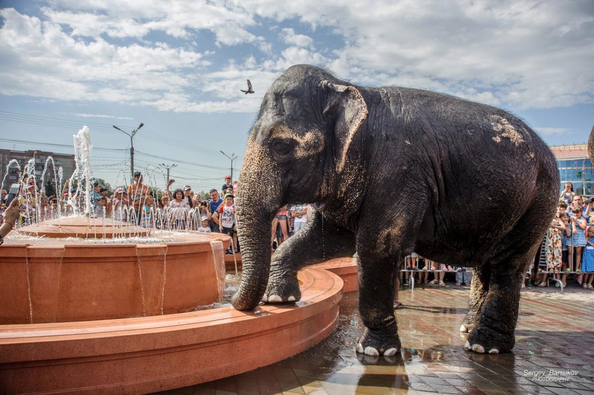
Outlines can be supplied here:
<path id="1" fill-rule="evenodd" d="M 280 206 L 280 175 L 253 139 L 238 183 L 236 220 L 242 279 L 231 300 L 237 310 L 253 310 L 262 300 L 270 273 L 271 223 Z"/>

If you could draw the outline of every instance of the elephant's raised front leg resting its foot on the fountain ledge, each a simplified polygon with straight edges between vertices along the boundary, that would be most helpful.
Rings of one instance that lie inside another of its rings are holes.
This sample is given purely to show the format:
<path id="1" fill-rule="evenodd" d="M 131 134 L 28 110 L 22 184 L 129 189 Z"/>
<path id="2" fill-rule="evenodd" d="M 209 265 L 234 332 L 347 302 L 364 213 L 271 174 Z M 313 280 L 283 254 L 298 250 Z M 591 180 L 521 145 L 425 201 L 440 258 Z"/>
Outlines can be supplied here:
<path id="1" fill-rule="evenodd" d="M 296 302 L 301 299 L 297 272 L 304 266 L 355 253 L 355 236 L 331 224 L 320 212 L 312 221 L 289 237 L 274 253 L 268 286 L 262 300 L 269 303 Z"/>

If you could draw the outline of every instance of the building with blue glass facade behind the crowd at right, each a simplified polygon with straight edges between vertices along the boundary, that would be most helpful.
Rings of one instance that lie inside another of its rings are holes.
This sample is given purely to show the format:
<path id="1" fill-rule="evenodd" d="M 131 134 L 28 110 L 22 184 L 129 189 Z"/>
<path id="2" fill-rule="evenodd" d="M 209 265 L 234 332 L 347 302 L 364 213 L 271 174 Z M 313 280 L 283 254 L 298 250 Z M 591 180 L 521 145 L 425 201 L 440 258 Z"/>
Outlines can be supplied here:
<path id="1" fill-rule="evenodd" d="M 559 193 L 565 183 L 570 182 L 578 195 L 587 198 L 594 195 L 594 166 L 588 157 L 586 144 L 554 145 L 549 148 L 557 159 L 561 176 Z"/>

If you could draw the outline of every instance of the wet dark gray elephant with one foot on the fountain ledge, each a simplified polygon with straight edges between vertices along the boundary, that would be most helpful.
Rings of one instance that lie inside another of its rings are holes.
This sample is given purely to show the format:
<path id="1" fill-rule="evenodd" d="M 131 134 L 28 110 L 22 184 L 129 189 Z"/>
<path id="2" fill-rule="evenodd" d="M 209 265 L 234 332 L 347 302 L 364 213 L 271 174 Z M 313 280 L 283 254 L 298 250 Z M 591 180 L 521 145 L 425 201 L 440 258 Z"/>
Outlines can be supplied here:
<path id="1" fill-rule="evenodd" d="M 467 349 L 513 348 L 520 286 L 555 213 L 548 147 L 495 107 L 410 88 L 371 88 L 323 69 L 287 69 L 266 93 L 239 176 L 244 276 L 233 306 L 299 300 L 297 270 L 359 262 L 358 352 L 400 350 L 396 270 L 411 251 L 473 267 Z M 315 203 L 312 221 L 270 257 L 285 203 Z"/>

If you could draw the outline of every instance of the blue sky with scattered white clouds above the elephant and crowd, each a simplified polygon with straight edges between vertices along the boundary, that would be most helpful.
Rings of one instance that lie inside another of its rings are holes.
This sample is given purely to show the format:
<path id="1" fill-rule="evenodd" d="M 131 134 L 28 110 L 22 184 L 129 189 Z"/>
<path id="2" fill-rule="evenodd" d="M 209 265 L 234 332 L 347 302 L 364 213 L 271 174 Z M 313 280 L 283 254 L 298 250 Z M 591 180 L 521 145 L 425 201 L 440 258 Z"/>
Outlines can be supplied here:
<path id="1" fill-rule="evenodd" d="M 131 130 L 136 168 L 179 163 L 175 187 L 220 187 L 261 98 L 296 63 L 503 107 L 549 145 L 594 125 L 594 3 L 582 1 L 2 1 L 2 148 L 67 144 L 83 125 L 114 184 Z M 290 8 L 290 9 L 289 9 Z M 245 79 L 255 94 L 244 95 Z M 122 177 L 119 177 L 122 180 Z M 160 182 L 160 177 L 157 177 Z M 119 183 L 119 182 L 118 182 Z"/>

